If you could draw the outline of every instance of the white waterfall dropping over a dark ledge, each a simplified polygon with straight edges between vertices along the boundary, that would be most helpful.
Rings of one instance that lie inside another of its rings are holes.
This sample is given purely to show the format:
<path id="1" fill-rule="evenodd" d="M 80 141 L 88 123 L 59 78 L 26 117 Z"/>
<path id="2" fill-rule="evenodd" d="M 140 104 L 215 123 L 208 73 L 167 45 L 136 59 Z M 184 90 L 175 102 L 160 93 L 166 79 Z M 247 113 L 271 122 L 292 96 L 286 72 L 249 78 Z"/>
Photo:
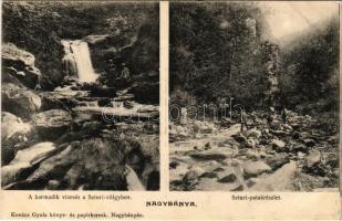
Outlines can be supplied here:
<path id="1" fill-rule="evenodd" d="M 87 43 L 81 40 L 63 40 L 65 55 L 63 65 L 66 75 L 77 75 L 80 82 L 94 82 L 97 74 L 94 72 Z"/>

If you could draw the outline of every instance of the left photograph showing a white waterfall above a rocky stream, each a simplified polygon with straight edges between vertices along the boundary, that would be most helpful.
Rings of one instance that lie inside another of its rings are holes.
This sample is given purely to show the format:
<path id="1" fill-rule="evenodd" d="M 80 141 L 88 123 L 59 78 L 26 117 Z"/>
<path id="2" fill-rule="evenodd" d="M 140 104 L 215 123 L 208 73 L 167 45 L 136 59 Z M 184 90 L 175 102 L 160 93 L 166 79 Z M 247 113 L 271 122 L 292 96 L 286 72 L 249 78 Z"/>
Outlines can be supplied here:
<path id="1" fill-rule="evenodd" d="M 159 3 L 4 1 L 4 190 L 159 190 Z"/>

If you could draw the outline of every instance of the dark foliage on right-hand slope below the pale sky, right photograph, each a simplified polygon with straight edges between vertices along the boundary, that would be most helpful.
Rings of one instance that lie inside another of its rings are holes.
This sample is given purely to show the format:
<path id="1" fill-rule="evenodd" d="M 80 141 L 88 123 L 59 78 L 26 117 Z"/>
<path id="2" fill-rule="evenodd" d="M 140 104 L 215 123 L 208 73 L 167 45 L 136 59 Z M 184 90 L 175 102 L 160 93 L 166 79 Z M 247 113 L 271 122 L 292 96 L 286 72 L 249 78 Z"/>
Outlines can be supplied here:
<path id="1" fill-rule="evenodd" d="M 283 50 L 280 78 L 287 105 L 317 113 L 339 108 L 339 19 L 324 21 Z"/>

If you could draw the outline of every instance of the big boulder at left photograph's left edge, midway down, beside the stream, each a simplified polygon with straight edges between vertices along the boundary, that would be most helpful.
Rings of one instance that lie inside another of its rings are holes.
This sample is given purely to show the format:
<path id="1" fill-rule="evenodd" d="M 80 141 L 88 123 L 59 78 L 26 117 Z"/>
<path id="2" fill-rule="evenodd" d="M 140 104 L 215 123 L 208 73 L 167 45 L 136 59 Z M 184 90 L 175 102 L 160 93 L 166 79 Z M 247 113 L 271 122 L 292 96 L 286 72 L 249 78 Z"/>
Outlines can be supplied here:
<path id="1" fill-rule="evenodd" d="M 41 98 L 33 92 L 6 83 L 1 91 L 2 108 L 22 118 L 30 118 L 42 105 Z"/>

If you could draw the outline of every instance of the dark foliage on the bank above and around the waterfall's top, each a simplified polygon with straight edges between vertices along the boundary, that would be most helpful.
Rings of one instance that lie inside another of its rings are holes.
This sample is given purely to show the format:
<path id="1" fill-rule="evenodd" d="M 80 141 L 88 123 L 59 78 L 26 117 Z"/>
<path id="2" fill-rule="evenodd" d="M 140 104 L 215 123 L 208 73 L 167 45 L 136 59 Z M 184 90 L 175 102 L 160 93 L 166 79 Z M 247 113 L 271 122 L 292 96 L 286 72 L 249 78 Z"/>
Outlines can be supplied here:
<path id="1" fill-rule="evenodd" d="M 3 42 L 14 43 L 37 59 L 37 66 L 58 85 L 63 78 L 61 39 L 107 34 L 107 48 L 131 44 L 142 24 L 157 21 L 157 3 L 6 1 Z"/>

